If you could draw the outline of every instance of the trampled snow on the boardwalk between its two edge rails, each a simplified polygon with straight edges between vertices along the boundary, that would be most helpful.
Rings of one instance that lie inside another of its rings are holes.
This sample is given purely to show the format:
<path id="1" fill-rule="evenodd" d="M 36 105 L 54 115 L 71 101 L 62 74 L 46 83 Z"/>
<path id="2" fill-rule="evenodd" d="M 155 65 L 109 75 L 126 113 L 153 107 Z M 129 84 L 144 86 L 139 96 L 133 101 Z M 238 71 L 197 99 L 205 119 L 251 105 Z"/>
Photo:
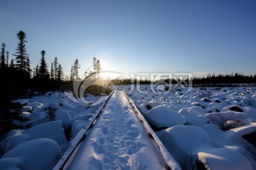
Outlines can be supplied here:
<path id="1" fill-rule="evenodd" d="M 164 158 L 122 91 L 115 91 L 65 169 L 162 169 Z"/>

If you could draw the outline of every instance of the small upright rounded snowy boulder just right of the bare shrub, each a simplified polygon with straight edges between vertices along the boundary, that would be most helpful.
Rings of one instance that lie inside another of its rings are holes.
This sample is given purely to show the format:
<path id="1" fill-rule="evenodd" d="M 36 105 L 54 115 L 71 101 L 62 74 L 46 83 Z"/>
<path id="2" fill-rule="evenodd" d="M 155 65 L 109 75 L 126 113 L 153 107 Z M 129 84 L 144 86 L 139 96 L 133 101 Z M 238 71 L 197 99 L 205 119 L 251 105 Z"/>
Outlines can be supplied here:
<path id="1" fill-rule="evenodd" d="M 63 128 L 69 128 L 72 122 L 71 116 L 68 111 L 64 109 L 58 109 L 55 111 L 55 120 L 61 120 L 63 123 Z"/>

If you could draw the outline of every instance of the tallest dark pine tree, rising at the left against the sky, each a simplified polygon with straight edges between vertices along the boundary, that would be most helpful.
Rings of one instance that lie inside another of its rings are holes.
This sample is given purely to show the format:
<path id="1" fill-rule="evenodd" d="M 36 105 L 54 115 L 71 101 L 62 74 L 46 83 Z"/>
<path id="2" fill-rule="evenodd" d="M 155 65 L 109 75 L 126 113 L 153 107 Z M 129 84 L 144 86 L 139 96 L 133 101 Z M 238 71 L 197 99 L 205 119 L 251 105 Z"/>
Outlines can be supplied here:
<path id="1" fill-rule="evenodd" d="M 17 34 L 18 37 L 18 47 L 16 48 L 16 67 L 19 71 L 25 72 L 30 75 L 31 69 L 30 69 L 30 60 L 28 57 L 28 54 L 26 53 L 26 45 L 25 42 L 27 42 L 26 34 L 21 30 Z"/>

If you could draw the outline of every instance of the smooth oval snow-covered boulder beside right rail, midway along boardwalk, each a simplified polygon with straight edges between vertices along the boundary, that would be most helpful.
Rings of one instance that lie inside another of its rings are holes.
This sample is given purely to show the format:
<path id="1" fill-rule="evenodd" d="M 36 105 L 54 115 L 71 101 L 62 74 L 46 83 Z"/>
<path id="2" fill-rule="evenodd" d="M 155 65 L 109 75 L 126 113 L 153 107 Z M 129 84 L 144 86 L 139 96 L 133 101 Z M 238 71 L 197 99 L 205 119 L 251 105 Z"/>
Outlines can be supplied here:
<path id="1" fill-rule="evenodd" d="M 156 128 L 169 128 L 174 125 L 184 125 L 185 118 L 172 110 L 168 106 L 156 106 L 151 108 L 146 116 L 146 120 Z"/>

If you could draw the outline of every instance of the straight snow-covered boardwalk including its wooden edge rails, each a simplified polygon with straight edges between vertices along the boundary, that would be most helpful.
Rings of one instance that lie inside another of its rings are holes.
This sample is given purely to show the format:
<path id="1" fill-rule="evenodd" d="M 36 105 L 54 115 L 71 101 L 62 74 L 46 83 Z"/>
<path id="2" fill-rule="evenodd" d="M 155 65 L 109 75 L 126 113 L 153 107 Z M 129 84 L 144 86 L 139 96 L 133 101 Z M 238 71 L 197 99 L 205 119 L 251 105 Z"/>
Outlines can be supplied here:
<path id="1" fill-rule="evenodd" d="M 97 117 L 55 170 L 180 169 L 124 91 L 113 91 Z"/>

